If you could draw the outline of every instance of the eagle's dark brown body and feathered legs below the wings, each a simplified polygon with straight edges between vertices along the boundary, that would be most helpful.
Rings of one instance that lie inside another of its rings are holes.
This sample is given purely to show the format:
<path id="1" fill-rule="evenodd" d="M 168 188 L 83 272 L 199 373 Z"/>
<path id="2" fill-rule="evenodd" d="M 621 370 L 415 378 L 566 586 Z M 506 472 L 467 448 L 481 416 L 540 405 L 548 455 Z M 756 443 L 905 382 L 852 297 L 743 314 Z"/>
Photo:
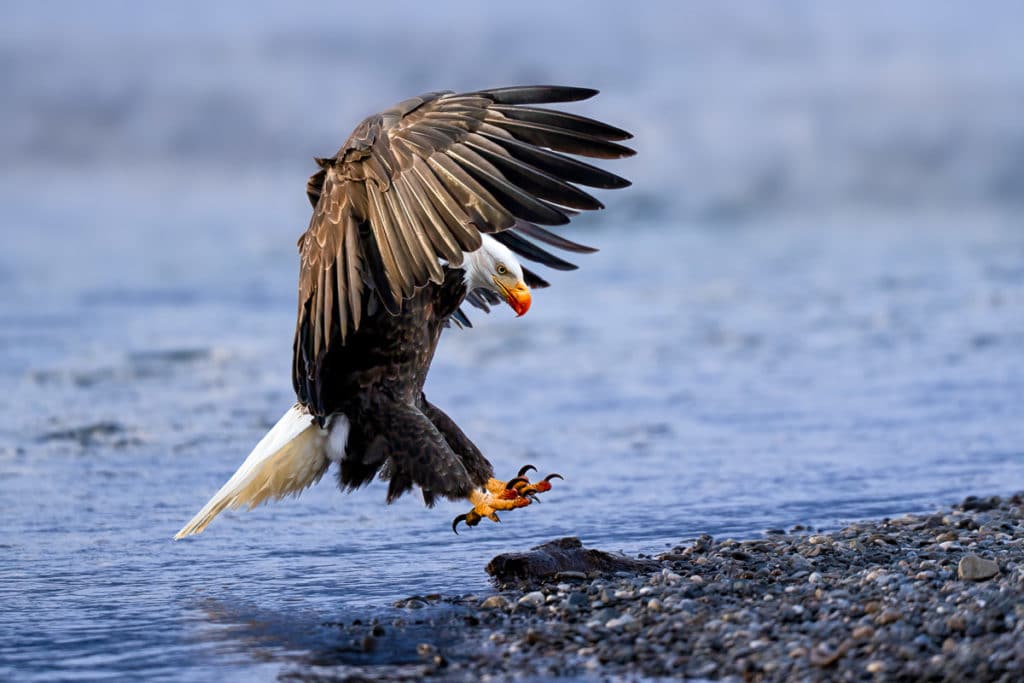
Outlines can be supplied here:
<path id="1" fill-rule="evenodd" d="M 339 414 L 348 419 L 345 487 L 368 483 L 383 468 L 389 501 L 417 484 L 430 505 L 437 495 L 465 498 L 493 475 L 476 445 L 423 393 L 441 330 L 466 296 L 464 271 L 446 267 L 444 274 L 397 314 L 368 306 L 359 329 L 319 358 L 317 372 L 293 378 L 299 402 L 322 423 Z"/>

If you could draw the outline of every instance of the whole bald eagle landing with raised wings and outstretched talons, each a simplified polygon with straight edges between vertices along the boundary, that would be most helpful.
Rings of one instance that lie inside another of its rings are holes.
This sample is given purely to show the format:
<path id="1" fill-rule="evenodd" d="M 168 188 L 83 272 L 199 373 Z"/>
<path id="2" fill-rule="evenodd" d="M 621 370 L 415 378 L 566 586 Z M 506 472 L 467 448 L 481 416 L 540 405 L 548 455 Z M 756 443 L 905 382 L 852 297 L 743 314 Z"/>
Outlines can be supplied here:
<path id="1" fill-rule="evenodd" d="M 343 489 L 375 476 L 387 501 L 413 486 L 473 505 L 459 521 L 497 521 L 551 487 L 490 463 L 427 400 L 423 384 L 441 330 L 468 326 L 464 302 L 505 301 L 519 315 L 547 286 L 516 257 L 575 266 L 535 242 L 594 251 L 541 225 L 603 208 L 578 185 L 624 178 L 568 156 L 632 156 L 607 124 L 535 104 L 597 94 L 519 86 L 431 92 L 367 118 L 306 184 L 313 206 L 299 239 L 299 305 L 292 379 L 296 404 L 233 476 L 174 537 L 199 533 L 225 508 L 297 495 L 339 466 Z M 574 184 L 573 184 L 574 183 Z"/>

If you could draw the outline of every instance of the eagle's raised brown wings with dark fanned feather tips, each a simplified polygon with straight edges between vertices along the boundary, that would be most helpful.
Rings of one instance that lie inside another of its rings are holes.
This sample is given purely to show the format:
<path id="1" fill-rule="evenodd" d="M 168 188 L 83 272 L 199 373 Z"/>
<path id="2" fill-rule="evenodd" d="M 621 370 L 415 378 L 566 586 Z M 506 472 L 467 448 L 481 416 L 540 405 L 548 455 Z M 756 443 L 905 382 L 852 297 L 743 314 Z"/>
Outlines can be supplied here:
<path id="1" fill-rule="evenodd" d="M 443 281 L 441 259 L 461 265 L 481 232 L 559 269 L 574 266 L 526 238 L 593 251 L 541 225 L 602 208 L 577 184 L 629 181 L 561 153 L 628 157 L 633 151 L 616 141 L 631 135 L 532 104 L 595 94 L 558 86 L 428 93 L 366 119 L 334 157 L 317 160 L 306 186 L 313 214 L 299 239 L 293 381 L 300 397 L 327 350 L 358 329 L 368 298 L 396 312 L 416 288 Z"/>

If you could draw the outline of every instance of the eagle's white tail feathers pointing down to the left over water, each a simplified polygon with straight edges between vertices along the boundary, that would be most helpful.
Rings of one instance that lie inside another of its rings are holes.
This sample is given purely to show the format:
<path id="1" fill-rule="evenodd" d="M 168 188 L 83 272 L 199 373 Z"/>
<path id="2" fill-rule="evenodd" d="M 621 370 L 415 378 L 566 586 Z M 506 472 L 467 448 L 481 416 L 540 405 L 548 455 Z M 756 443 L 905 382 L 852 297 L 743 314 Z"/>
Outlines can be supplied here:
<path id="1" fill-rule="evenodd" d="M 343 426 L 347 436 L 347 421 Z M 322 429 L 298 405 L 293 407 L 174 540 L 201 532 L 225 508 L 248 505 L 251 509 L 267 499 L 298 495 L 319 481 L 331 464 L 327 447 L 331 431 Z"/>

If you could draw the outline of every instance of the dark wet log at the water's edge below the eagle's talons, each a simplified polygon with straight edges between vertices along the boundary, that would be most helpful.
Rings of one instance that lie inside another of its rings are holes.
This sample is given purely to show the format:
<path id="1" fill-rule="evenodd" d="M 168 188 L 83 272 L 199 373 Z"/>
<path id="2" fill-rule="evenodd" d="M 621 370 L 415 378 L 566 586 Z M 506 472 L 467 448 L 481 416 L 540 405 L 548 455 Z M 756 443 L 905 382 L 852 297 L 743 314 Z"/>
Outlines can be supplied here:
<path id="1" fill-rule="evenodd" d="M 556 539 L 524 553 L 503 553 L 487 563 L 487 573 L 500 583 L 534 581 L 559 573 L 610 573 L 652 571 L 660 565 L 617 553 L 584 548 L 575 537 Z M 582 578 L 582 577 L 581 577 Z"/>

